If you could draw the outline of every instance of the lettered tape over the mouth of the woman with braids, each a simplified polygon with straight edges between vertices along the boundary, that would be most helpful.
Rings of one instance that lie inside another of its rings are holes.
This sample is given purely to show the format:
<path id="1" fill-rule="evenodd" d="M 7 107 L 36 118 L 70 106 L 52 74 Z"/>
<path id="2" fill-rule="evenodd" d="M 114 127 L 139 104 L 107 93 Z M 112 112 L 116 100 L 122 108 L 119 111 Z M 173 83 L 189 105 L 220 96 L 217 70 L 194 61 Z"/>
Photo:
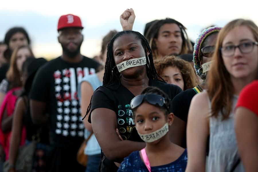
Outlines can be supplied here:
<path id="1" fill-rule="evenodd" d="M 143 66 L 146 64 L 146 57 L 133 58 L 123 61 L 116 65 L 119 72 L 122 72 L 130 67 Z"/>

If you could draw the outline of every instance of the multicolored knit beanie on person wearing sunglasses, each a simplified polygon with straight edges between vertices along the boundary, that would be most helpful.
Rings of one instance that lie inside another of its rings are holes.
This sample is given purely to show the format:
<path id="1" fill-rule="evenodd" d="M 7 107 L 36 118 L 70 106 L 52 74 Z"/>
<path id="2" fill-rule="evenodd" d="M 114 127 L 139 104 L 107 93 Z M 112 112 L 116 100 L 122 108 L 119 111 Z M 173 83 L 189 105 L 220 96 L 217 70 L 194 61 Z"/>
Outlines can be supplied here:
<path id="1" fill-rule="evenodd" d="M 196 74 L 202 79 L 206 79 L 206 74 L 202 73 L 202 66 L 200 65 L 200 62 L 202 61 L 202 55 L 201 55 L 201 47 L 204 42 L 204 40 L 212 33 L 219 32 L 222 28 L 214 26 L 207 29 L 204 29 L 202 33 L 199 35 L 199 37 L 196 39 L 196 43 L 193 47 L 193 64 L 196 71 Z"/>

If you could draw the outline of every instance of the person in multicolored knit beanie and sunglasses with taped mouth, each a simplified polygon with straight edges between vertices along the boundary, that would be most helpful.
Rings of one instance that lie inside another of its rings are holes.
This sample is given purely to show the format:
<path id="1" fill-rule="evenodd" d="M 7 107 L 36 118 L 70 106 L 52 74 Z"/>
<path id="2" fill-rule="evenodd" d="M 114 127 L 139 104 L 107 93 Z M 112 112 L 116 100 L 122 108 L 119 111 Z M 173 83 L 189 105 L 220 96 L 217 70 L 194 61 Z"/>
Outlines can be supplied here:
<path id="1" fill-rule="evenodd" d="M 196 39 L 193 52 L 193 63 L 196 70 L 196 74 L 204 81 L 200 85 L 197 85 L 193 89 L 187 89 L 178 94 L 172 100 L 172 112 L 180 119 L 187 123 L 188 110 L 191 100 L 194 95 L 202 92 L 206 89 L 206 72 L 210 70 L 211 57 L 215 49 L 215 43 L 217 40 L 218 32 L 221 28 L 210 27 L 202 31 L 199 37 Z M 186 139 L 186 133 L 185 133 Z M 186 140 L 183 147 L 186 147 Z"/>

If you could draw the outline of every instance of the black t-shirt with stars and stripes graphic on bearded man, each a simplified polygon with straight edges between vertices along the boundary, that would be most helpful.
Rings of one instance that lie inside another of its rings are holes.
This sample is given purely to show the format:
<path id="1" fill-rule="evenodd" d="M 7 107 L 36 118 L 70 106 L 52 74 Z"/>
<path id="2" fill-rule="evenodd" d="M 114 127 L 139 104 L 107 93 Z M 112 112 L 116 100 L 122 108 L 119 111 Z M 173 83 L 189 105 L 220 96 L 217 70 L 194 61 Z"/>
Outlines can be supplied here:
<path id="1" fill-rule="evenodd" d="M 84 136 L 77 83 L 95 73 L 99 63 L 83 56 L 78 63 L 58 57 L 46 63 L 37 72 L 30 98 L 46 102 L 49 114 L 50 144 L 59 147 L 80 145 Z"/>

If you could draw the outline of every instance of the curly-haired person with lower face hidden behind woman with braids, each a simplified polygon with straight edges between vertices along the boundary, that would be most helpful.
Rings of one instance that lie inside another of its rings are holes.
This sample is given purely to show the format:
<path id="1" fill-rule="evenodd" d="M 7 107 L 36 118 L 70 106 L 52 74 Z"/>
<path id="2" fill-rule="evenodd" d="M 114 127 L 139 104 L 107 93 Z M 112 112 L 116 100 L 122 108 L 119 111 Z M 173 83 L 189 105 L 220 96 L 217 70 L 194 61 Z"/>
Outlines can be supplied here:
<path id="1" fill-rule="evenodd" d="M 175 56 L 166 56 L 155 60 L 155 69 L 166 83 L 175 84 L 182 90 L 193 88 L 198 84 L 198 79 L 191 64 Z"/>

